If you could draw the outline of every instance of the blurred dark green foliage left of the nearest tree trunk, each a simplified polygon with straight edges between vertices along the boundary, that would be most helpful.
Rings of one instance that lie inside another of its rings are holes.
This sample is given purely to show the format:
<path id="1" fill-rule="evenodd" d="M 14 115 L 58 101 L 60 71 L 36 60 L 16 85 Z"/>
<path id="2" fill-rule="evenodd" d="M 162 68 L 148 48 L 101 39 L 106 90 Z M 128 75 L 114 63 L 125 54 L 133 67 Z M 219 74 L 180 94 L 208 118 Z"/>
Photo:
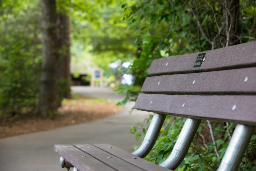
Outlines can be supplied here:
<path id="1" fill-rule="evenodd" d="M 15 115 L 37 105 L 41 15 L 36 10 L 39 3 L 3 1 L 1 5 L 0 110 Z"/>

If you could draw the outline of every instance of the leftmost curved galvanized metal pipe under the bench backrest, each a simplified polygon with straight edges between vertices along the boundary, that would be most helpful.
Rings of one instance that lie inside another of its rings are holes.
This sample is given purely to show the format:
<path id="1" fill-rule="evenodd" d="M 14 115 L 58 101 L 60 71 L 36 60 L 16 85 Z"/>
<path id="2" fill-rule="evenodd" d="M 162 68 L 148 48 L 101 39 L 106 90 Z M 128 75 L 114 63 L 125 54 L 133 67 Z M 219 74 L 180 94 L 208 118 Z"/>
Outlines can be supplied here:
<path id="1" fill-rule="evenodd" d="M 132 154 L 144 158 L 153 148 L 158 134 L 163 126 L 166 115 L 155 113 L 147 130 L 147 133 L 143 139 L 141 146 L 132 152 Z"/>

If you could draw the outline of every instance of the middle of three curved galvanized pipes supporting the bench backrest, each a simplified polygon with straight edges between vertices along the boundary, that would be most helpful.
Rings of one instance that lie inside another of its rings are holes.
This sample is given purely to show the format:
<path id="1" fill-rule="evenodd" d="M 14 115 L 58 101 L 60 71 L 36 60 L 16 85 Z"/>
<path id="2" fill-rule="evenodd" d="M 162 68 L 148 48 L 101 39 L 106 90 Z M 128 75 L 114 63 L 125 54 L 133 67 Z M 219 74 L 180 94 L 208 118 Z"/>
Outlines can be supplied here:
<path id="1" fill-rule="evenodd" d="M 175 170 L 184 159 L 201 120 L 187 118 L 168 158 L 160 166 Z"/>

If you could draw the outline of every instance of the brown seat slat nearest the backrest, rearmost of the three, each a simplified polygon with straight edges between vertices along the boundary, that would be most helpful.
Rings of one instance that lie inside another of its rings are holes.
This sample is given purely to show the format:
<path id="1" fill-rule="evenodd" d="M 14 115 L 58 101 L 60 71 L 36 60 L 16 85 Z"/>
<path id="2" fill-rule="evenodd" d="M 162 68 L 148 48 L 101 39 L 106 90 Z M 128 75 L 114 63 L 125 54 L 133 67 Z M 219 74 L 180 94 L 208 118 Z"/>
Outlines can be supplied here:
<path id="1" fill-rule="evenodd" d="M 116 156 L 128 163 L 131 163 L 132 165 L 135 165 L 143 170 L 147 170 L 147 171 L 155 171 L 155 170 L 159 170 L 159 171 L 170 171 L 170 169 L 167 168 L 163 168 L 157 164 L 151 163 L 147 160 L 144 160 L 138 156 L 135 156 L 127 151 L 124 151 L 118 147 L 112 146 L 110 144 L 93 144 L 93 146 L 98 147 L 110 154 L 112 154 L 113 156 Z M 112 147 L 112 148 L 108 148 L 108 147 Z M 132 159 L 133 157 L 135 157 L 136 159 Z"/>

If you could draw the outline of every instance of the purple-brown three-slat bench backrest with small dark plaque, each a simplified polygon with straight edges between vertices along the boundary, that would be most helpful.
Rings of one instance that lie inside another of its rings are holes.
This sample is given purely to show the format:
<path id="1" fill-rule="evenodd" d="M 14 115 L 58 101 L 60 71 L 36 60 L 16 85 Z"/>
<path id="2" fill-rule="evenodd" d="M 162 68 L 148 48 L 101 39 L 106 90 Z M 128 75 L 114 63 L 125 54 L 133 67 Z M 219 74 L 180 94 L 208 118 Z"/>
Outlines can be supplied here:
<path id="1" fill-rule="evenodd" d="M 256 125 L 256 41 L 152 62 L 134 108 Z"/>

